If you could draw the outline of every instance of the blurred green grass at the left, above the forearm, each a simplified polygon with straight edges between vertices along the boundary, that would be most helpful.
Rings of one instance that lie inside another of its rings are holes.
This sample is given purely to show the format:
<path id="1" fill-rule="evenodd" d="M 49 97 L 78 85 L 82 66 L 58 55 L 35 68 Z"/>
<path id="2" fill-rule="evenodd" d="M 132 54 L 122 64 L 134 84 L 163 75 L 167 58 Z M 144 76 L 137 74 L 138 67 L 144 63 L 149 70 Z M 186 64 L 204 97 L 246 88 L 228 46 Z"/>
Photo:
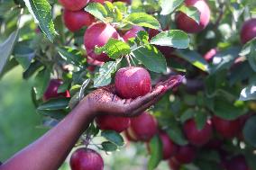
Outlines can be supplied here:
<path id="1" fill-rule="evenodd" d="M 0 80 L 0 160 L 5 161 L 40 137 L 41 116 L 31 99 L 32 80 L 22 79 L 22 67 L 16 67 Z"/>

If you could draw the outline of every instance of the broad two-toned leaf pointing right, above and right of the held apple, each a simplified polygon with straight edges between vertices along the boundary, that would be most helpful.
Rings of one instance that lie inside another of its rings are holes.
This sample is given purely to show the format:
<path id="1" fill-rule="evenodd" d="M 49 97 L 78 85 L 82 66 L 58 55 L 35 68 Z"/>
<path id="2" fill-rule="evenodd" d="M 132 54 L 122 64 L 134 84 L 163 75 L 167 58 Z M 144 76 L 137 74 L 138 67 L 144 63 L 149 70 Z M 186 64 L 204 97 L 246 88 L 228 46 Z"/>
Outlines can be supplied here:
<path id="1" fill-rule="evenodd" d="M 151 44 L 186 49 L 189 45 L 189 38 L 185 31 L 162 31 L 151 39 Z"/>

